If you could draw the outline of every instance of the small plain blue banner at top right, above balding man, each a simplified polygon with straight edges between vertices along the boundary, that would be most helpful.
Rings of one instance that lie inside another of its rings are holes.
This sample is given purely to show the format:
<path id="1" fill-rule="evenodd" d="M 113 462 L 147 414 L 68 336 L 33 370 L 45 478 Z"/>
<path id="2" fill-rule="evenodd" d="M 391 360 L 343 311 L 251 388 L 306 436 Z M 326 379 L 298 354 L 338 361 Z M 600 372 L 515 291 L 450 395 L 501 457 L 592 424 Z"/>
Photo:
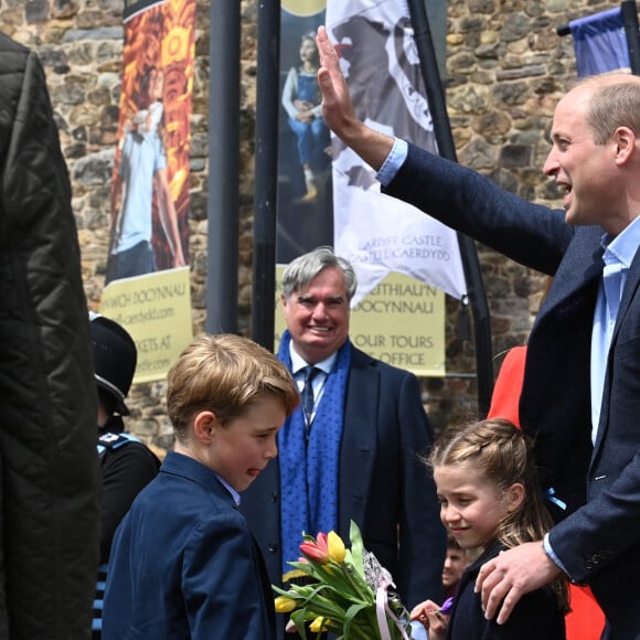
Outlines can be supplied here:
<path id="1" fill-rule="evenodd" d="M 629 46 L 620 7 L 572 20 L 578 77 L 630 71 Z"/>

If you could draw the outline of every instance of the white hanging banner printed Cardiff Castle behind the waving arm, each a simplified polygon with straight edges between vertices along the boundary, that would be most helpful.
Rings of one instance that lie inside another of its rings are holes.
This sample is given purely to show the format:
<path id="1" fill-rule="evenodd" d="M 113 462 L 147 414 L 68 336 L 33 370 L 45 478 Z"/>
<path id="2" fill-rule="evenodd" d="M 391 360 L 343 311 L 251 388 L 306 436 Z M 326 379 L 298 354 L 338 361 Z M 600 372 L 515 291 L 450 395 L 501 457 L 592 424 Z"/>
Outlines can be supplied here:
<path id="1" fill-rule="evenodd" d="M 437 153 L 406 1 L 328 0 L 327 30 L 360 118 Z M 462 298 L 467 286 L 456 232 L 382 194 L 373 169 L 334 136 L 332 147 L 334 246 L 358 273 L 353 305 L 390 271 Z"/>

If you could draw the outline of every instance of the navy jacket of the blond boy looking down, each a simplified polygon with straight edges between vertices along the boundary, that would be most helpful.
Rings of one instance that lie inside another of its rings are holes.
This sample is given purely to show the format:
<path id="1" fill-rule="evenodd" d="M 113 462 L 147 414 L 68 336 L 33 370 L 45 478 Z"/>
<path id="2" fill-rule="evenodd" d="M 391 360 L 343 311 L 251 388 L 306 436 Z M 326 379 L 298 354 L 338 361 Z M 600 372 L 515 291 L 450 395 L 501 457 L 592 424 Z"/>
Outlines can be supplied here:
<path id="1" fill-rule="evenodd" d="M 275 637 L 260 552 L 228 490 L 170 451 L 116 532 L 104 640 Z"/>

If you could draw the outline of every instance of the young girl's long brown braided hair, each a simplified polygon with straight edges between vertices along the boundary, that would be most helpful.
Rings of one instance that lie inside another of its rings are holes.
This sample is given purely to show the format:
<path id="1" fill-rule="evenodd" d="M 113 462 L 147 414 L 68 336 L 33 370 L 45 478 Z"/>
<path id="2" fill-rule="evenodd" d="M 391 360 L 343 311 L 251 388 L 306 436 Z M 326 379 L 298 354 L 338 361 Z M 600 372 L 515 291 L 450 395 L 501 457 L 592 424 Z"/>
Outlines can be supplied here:
<path id="1" fill-rule="evenodd" d="M 519 482 L 524 500 L 519 509 L 506 513 L 495 530 L 495 540 L 508 548 L 524 542 L 540 541 L 553 526 L 537 482 L 533 463 L 533 440 L 513 423 L 493 418 L 449 427 L 435 442 L 426 460 L 437 467 L 471 462 L 499 489 Z M 552 583 L 561 608 L 568 611 L 568 589 L 564 574 Z"/>

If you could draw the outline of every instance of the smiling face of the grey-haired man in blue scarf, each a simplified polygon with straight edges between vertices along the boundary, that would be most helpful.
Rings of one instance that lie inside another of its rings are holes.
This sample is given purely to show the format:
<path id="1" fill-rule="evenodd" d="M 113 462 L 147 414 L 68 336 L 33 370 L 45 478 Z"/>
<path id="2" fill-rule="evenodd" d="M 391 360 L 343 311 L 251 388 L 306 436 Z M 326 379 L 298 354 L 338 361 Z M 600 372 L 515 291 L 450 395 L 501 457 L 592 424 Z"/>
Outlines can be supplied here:
<path id="1" fill-rule="evenodd" d="M 349 335 L 349 297 L 342 271 L 322 269 L 306 289 L 282 297 L 282 312 L 294 349 L 309 364 L 335 353 Z"/>

